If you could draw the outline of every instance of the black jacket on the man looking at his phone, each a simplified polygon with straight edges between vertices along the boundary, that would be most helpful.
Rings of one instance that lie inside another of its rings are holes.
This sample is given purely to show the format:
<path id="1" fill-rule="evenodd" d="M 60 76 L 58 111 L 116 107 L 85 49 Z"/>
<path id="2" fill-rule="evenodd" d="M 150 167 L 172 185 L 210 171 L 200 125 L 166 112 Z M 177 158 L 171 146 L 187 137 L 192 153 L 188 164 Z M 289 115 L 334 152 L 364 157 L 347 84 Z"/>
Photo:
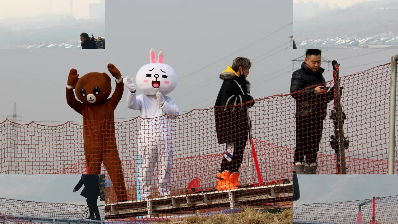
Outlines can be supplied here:
<path id="1" fill-rule="evenodd" d="M 296 116 L 317 116 L 320 120 L 326 118 L 326 108 L 328 102 L 333 100 L 334 88 L 330 88 L 325 94 L 314 94 L 316 86 L 309 87 L 325 85 L 325 78 L 322 75 L 324 71 L 325 69 L 319 68 L 314 73 L 303 62 L 301 68 L 293 72 L 290 92 L 296 100 Z"/>

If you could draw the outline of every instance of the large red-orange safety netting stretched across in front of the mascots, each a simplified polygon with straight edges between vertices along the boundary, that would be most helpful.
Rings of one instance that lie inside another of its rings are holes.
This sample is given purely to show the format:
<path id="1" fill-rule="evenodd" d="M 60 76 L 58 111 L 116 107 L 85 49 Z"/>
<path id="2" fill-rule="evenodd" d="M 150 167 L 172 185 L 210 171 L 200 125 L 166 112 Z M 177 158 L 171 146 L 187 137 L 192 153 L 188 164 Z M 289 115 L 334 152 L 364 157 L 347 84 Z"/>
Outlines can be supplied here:
<path id="1" fill-rule="evenodd" d="M 360 73 L 341 77 L 344 86 L 341 96 L 342 110 L 347 115 L 344 122 L 344 136 L 350 141 L 345 149 L 347 174 L 386 174 L 388 156 L 388 117 L 390 97 L 390 63 L 379 65 Z M 333 86 L 333 81 L 326 83 Z M 178 103 L 178 102 L 177 102 Z M 123 106 L 123 104 L 119 105 Z M 233 126 L 229 131 L 244 130 L 240 125 L 243 119 L 228 120 L 238 116 L 241 110 L 238 106 L 228 106 L 228 116 L 224 117 L 227 126 Z M 330 136 L 334 134 L 329 112 L 333 108 L 333 100 L 328 103 L 328 115 L 324 120 L 320 150 L 318 151 L 318 173 L 336 173 L 335 151 L 330 146 Z M 224 108 L 221 108 L 222 110 Z M 187 187 L 216 187 L 217 170 L 226 150 L 225 144 L 219 144 L 215 129 L 215 108 L 193 110 L 169 119 L 172 143 L 172 167 L 170 167 L 171 195 L 187 193 Z M 296 101 L 291 94 L 279 94 L 255 100 L 248 108 L 251 120 L 252 138 L 244 141 L 246 144 L 244 159 L 239 169 L 239 182 L 242 185 L 258 183 L 282 184 L 291 181 L 293 172 L 293 158 L 295 153 Z M 72 111 L 71 111 L 72 113 Z M 105 167 L 101 165 L 101 173 L 107 176 L 107 203 L 120 201 L 120 194 L 127 192 L 127 200 L 137 199 L 137 168 L 145 164 L 141 160 L 145 156 L 145 147 L 158 147 L 156 155 L 170 147 L 166 138 L 167 133 L 158 133 L 155 126 L 146 129 L 145 137 L 138 139 L 140 128 L 148 127 L 144 124 L 163 124 L 167 116 L 158 118 L 135 118 L 127 121 L 98 121 L 91 128 L 105 126 L 115 128 L 115 136 L 123 177 L 117 173 L 117 165 Z M 0 174 L 83 174 L 87 172 L 84 156 L 84 126 L 66 122 L 59 126 L 45 126 L 31 122 L 18 124 L 10 120 L 0 123 Z M 248 136 L 247 132 L 238 136 Z M 157 136 L 151 139 L 150 137 Z M 101 144 L 106 139 L 100 135 L 90 136 L 98 139 L 96 150 L 101 151 Z M 138 143 L 137 140 L 140 142 Z M 252 141 L 251 141 L 252 140 Z M 239 140 L 241 141 L 241 140 Z M 238 142 L 238 140 L 236 140 Z M 86 145 L 86 150 L 92 145 Z M 102 152 L 103 153 L 103 152 Z M 141 155 L 141 159 L 139 158 Z M 147 178 L 154 179 L 152 198 L 159 196 L 158 183 L 162 171 L 161 156 L 159 164 Z M 114 159 L 117 164 L 118 158 Z M 167 159 L 166 159 L 167 160 Z M 398 161 L 397 157 L 395 161 Z M 397 170 L 398 163 L 395 163 Z M 261 185 L 260 185 L 261 186 Z M 117 188 L 117 189 L 116 189 Z M 275 198 L 275 202 L 278 202 Z M 253 206 L 263 206 L 258 202 Z M 229 206 L 229 205 L 228 205 Z M 183 210 L 182 210 L 183 212 Z"/>

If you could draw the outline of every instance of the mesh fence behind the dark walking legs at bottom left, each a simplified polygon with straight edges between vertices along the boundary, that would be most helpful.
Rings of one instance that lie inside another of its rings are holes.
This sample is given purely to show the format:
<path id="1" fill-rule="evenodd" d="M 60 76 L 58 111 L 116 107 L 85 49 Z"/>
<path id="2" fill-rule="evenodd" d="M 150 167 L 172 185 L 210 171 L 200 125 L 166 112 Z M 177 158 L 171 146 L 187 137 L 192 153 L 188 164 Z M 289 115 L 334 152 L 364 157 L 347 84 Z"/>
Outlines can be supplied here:
<path id="1" fill-rule="evenodd" d="M 102 219 L 105 207 L 98 206 Z M 0 216 L 30 216 L 42 218 L 68 218 L 84 220 L 89 216 L 88 207 L 78 204 L 35 202 L 0 198 Z"/>

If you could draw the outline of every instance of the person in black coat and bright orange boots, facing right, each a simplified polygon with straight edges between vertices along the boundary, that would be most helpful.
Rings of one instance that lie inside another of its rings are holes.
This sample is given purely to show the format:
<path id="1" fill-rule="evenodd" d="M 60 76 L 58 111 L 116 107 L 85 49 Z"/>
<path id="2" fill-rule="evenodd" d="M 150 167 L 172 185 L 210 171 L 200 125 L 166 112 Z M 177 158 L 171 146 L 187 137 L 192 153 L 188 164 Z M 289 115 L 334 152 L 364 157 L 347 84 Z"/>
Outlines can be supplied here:
<path id="1" fill-rule="evenodd" d="M 215 126 L 219 144 L 226 144 L 226 152 L 217 172 L 217 190 L 237 189 L 238 170 L 248 141 L 250 120 L 248 108 L 254 105 L 250 83 L 246 79 L 252 63 L 237 57 L 220 74 L 223 80 L 215 103 Z"/>

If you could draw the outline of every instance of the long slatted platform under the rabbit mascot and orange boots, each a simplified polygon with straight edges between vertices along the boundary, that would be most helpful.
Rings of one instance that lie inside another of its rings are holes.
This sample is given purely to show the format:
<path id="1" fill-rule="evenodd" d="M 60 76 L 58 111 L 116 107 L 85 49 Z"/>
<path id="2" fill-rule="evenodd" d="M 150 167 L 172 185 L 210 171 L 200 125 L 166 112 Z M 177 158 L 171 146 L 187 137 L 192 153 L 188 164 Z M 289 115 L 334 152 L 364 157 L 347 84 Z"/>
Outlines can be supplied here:
<path id="1" fill-rule="evenodd" d="M 158 214 L 189 214 L 210 208 L 261 206 L 293 200 L 293 183 L 211 191 L 105 204 L 105 220 L 113 218 L 155 217 Z"/>

